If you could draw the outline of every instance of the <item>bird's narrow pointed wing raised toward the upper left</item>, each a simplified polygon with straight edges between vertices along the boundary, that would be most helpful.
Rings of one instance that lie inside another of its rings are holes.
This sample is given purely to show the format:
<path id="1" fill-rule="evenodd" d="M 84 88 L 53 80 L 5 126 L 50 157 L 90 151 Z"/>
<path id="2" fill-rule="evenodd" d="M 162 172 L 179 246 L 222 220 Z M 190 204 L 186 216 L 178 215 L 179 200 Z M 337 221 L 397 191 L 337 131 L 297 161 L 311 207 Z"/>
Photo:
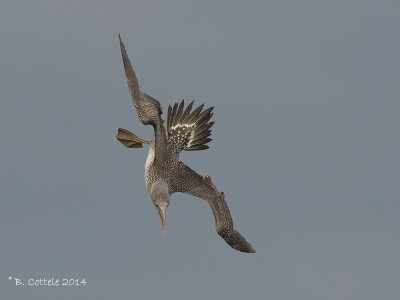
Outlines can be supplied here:
<path id="1" fill-rule="evenodd" d="M 136 108 L 139 120 L 145 125 L 162 122 L 160 117 L 162 114 L 160 102 L 140 91 L 139 82 L 136 78 L 135 71 L 133 71 L 128 54 L 125 50 L 125 45 L 122 42 L 120 35 L 119 44 L 121 47 L 122 61 L 124 63 L 126 82 L 128 84 L 129 93 L 131 94 L 132 102 Z"/>

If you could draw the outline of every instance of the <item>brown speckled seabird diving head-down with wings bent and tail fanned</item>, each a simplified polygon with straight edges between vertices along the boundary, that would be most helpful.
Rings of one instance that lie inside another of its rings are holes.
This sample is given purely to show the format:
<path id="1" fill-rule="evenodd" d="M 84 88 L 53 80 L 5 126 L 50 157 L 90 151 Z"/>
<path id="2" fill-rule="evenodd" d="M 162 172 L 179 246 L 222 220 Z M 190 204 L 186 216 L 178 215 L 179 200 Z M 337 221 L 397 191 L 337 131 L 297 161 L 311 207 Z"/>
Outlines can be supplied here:
<path id="1" fill-rule="evenodd" d="M 179 105 L 168 106 L 167 130 L 161 118 L 163 110 L 160 102 L 143 93 L 133 71 L 131 62 L 125 50 L 125 45 L 119 35 L 122 61 L 125 68 L 126 81 L 136 108 L 139 120 L 144 125 L 154 128 L 154 140 L 146 141 L 134 133 L 118 128 L 115 137 L 128 148 L 142 148 L 149 145 L 149 154 L 145 165 L 145 182 L 147 191 L 161 219 L 163 233 L 166 230 L 166 209 L 169 197 L 173 193 L 187 193 L 204 199 L 210 205 L 214 214 L 217 233 L 234 249 L 253 253 L 252 246 L 235 229 L 225 202 L 225 195 L 219 192 L 210 176 L 200 176 L 184 163 L 179 161 L 182 150 L 204 150 L 211 141 L 210 122 L 213 107 L 204 109 L 204 104 L 192 110 L 193 101 L 184 109 L 184 100 Z"/>

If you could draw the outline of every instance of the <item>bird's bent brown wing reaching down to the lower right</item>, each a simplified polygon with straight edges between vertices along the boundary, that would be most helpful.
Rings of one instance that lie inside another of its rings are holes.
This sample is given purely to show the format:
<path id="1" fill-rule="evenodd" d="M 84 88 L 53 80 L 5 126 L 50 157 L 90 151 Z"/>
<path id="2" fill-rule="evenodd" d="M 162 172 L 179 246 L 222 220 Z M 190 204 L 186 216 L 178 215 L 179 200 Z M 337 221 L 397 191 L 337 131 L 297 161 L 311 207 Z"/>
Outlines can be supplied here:
<path id="1" fill-rule="evenodd" d="M 179 162 L 178 174 L 172 182 L 171 193 L 174 192 L 187 193 L 206 200 L 214 214 L 217 233 L 225 242 L 241 252 L 256 252 L 250 243 L 238 231 L 233 229 L 233 221 L 228 205 L 225 202 L 225 195 L 217 190 L 210 176 L 202 177 L 182 162 Z"/>

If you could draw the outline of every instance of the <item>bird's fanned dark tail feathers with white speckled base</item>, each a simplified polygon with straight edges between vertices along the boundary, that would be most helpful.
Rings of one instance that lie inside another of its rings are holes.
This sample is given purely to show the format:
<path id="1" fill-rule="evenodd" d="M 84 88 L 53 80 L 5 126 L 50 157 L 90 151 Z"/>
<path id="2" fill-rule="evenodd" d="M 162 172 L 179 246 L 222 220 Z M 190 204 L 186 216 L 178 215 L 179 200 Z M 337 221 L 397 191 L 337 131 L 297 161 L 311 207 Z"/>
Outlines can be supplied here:
<path id="1" fill-rule="evenodd" d="M 172 108 L 168 106 L 167 130 L 168 140 L 172 142 L 178 151 L 204 150 L 211 141 L 211 127 L 214 122 L 209 122 L 214 107 L 203 110 L 204 104 L 192 112 L 193 101 L 183 110 L 184 100 L 175 103 Z"/>

